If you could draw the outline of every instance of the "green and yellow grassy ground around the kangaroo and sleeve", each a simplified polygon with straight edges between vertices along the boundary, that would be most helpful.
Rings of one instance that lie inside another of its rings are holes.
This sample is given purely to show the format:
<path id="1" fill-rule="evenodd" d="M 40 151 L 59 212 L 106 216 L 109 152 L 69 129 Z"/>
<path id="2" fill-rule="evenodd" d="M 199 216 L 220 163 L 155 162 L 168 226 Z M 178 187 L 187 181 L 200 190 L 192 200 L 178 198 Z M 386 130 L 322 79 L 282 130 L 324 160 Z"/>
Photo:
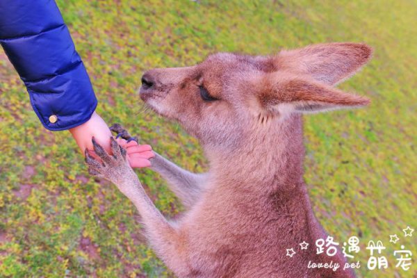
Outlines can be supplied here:
<path id="1" fill-rule="evenodd" d="M 417 229 L 417 3 L 381 1 L 58 1 L 108 124 L 189 170 L 197 141 L 145 113 L 142 72 L 199 62 L 215 51 L 272 54 L 316 42 L 367 42 L 375 56 L 343 90 L 373 100 L 357 111 L 305 119 L 306 181 L 314 211 L 336 240 L 361 236 L 361 277 L 416 277 L 395 268 L 389 234 Z M 1 51 L 0 51 L 1 52 Z M 172 277 L 140 234 L 138 213 L 115 186 L 88 176 L 67 131 L 49 132 L 0 54 L 0 277 Z M 138 171 L 156 206 L 181 211 L 165 183 Z M 366 270 L 368 240 L 383 240 L 389 269 Z"/>

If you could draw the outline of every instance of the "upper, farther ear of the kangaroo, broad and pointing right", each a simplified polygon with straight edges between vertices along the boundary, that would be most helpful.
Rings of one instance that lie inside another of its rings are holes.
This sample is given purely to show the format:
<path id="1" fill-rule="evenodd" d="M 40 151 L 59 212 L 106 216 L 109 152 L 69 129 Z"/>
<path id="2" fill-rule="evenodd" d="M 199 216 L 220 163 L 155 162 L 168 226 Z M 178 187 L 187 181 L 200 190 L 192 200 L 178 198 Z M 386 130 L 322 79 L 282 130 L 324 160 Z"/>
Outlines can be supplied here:
<path id="1" fill-rule="evenodd" d="M 352 76 L 372 56 L 366 44 L 336 42 L 281 51 L 273 59 L 281 70 L 306 74 L 327 85 L 335 85 Z"/>

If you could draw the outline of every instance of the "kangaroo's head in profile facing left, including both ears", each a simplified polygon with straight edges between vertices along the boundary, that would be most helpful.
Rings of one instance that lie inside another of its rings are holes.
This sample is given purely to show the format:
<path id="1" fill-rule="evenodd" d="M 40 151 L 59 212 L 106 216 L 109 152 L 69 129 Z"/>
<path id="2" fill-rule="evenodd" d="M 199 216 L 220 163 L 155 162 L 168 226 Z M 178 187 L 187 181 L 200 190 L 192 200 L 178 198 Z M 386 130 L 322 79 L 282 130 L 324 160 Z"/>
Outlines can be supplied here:
<path id="1" fill-rule="evenodd" d="M 370 58 L 366 44 L 316 44 L 275 56 L 219 53 L 192 67 L 149 70 L 140 97 L 203 145 L 234 146 L 294 113 L 354 108 L 365 97 L 333 87 Z M 248 132 L 249 131 L 249 132 Z"/>

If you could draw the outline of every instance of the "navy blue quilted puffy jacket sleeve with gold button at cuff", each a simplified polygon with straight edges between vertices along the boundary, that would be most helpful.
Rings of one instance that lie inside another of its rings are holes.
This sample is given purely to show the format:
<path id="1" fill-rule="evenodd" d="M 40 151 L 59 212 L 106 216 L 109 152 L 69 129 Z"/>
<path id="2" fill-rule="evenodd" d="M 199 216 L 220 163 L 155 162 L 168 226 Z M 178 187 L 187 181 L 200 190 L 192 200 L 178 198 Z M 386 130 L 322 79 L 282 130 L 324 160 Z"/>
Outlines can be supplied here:
<path id="1" fill-rule="evenodd" d="M 97 99 L 53 0 L 0 0 L 0 43 L 49 130 L 87 122 Z"/>

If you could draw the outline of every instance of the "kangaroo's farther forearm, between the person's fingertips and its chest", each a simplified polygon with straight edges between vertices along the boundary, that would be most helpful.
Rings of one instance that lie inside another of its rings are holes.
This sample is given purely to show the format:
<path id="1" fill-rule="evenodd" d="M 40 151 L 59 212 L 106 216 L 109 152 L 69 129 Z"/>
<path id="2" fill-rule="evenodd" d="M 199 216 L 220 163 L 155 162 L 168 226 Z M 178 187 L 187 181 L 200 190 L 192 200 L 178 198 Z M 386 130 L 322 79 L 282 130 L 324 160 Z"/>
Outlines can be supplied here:
<path id="1" fill-rule="evenodd" d="M 161 174 L 184 204 L 194 204 L 204 186 L 206 174 L 195 174 L 183 170 L 156 152 L 151 163 L 152 170 Z"/>

